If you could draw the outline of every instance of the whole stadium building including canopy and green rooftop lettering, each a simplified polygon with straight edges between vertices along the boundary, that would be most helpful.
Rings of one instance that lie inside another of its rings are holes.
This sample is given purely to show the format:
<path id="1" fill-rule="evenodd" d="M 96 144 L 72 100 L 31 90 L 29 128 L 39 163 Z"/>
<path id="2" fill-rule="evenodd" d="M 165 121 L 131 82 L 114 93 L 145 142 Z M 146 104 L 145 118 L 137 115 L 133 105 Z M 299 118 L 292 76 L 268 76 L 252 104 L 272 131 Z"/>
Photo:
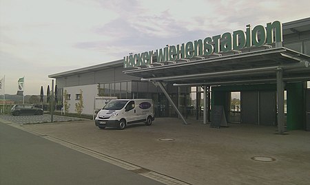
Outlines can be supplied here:
<path id="1" fill-rule="evenodd" d="M 310 18 L 266 25 L 49 75 L 74 112 L 96 98 L 152 98 L 156 117 L 310 130 Z M 308 82 L 308 85 L 307 85 Z M 239 101 L 240 100 L 240 101 Z M 212 111 L 213 110 L 213 111 Z"/>

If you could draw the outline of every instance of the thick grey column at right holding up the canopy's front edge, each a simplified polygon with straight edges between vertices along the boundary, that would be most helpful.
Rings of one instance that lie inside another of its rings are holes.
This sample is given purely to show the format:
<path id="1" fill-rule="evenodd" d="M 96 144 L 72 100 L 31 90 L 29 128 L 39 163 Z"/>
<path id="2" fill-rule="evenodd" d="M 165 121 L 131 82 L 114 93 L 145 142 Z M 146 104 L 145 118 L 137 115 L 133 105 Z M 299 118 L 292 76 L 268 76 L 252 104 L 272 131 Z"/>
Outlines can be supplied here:
<path id="1" fill-rule="evenodd" d="M 285 131 L 285 112 L 284 112 L 284 85 L 282 78 L 282 69 L 279 67 L 277 74 L 277 104 L 278 104 L 278 133 L 284 134 Z"/>

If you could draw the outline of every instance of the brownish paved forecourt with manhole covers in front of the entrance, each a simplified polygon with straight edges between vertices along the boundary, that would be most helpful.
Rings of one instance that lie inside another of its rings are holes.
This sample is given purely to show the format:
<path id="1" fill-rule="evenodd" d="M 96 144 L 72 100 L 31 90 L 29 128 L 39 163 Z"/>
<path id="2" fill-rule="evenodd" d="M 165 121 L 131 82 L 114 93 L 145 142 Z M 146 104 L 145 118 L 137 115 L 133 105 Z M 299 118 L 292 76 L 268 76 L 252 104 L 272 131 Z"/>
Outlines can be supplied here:
<path id="1" fill-rule="evenodd" d="M 98 129 L 94 121 L 21 127 L 116 157 L 189 184 L 309 184 L 310 132 L 229 124 L 213 129 L 156 118 L 146 127 Z M 163 139 L 163 141 L 161 141 Z M 171 140 L 172 141 L 171 141 Z M 263 156 L 271 162 L 252 160 Z"/>

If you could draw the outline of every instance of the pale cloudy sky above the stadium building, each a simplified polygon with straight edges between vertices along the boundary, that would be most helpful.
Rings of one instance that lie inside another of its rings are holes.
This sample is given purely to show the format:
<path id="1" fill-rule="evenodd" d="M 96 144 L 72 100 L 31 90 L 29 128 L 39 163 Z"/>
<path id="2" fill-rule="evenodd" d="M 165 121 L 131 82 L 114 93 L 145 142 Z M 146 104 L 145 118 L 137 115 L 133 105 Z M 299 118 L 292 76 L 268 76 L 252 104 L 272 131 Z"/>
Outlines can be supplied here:
<path id="1" fill-rule="evenodd" d="M 50 74 L 207 36 L 310 17 L 310 1 L 0 0 L 0 80 L 40 94 Z"/>

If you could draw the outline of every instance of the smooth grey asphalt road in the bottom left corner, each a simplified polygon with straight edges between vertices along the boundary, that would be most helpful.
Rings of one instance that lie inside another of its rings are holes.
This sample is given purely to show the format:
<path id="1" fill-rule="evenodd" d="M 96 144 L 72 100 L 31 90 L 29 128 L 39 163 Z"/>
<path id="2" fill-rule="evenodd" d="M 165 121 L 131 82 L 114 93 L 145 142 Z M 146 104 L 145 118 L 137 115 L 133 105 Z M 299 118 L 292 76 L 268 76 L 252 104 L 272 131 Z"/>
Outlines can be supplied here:
<path id="1" fill-rule="evenodd" d="M 0 122 L 0 184 L 161 184 Z"/>

